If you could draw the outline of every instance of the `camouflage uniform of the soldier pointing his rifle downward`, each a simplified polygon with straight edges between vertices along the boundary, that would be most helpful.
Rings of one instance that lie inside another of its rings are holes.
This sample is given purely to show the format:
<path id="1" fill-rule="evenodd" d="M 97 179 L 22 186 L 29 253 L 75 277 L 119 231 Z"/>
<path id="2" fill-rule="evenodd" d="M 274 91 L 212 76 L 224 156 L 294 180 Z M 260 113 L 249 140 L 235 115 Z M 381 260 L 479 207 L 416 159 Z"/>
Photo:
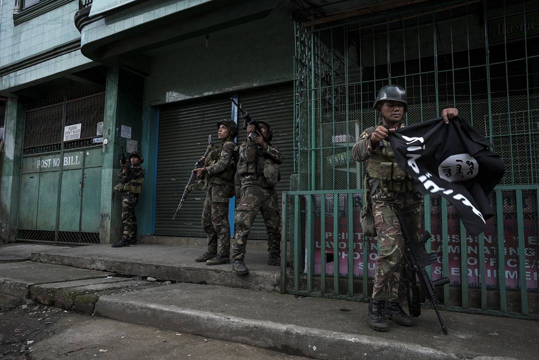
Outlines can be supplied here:
<path id="1" fill-rule="evenodd" d="M 230 257 L 229 196 L 234 188 L 237 154 L 237 144 L 229 140 L 214 148 L 205 160 L 208 193 L 202 227 L 208 234 L 208 253 L 225 257 Z"/>

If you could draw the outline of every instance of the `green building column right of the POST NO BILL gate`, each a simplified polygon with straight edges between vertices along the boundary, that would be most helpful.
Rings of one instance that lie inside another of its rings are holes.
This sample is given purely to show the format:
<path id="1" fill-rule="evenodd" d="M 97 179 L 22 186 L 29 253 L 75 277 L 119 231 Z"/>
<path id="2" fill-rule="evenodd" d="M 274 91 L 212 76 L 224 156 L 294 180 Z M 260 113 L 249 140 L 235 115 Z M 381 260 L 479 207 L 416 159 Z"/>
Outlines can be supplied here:
<path id="1" fill-rule="evenodd" d="M 114 67 L 107 72 L 99 227 L 101 244 L 114 243 L 122 236 L 122 196 L 121 192 L 114 190 L 114 185 L 120 181 L 120 147 L 129 156 L 128 138 L 126 134 L 122 136 L 122 125 L 130 128 L 130 143 L 136 141 L 136 149 L 140 151 L 143 85 L 143 77 L 123 68 Z M 139 212 L 140 205 L 137 205 L 136 213 Z"/>

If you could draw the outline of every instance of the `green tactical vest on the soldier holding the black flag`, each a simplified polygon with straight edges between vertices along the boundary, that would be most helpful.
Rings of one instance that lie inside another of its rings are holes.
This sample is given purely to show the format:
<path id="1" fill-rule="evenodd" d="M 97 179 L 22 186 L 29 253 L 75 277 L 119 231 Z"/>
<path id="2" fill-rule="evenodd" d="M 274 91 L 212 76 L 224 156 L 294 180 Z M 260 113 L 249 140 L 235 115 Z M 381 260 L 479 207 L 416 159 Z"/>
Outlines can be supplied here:
<path id="1" fill-rule="evenodd" d="M 369 128 L 374 132 L 375 128 Z M 367 160 L 367 176 L 379 179 L 383 191 L 405 192 L 413 189 L 412 178 L 399 168 L 389 141 L 383 140 L 383 147 L 376 148 Z"/>

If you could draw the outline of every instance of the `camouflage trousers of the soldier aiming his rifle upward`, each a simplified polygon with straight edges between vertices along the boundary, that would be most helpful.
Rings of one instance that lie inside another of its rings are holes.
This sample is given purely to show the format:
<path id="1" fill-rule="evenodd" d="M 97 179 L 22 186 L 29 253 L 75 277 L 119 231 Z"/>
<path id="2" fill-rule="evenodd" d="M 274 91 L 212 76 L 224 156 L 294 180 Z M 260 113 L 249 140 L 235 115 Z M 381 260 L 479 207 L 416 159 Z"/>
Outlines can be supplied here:
<path id="1" fill-rule="evenodd" d="M 247 238 L 258 212 L 262 213 L 268 236 L 269 257 L 281 257 L 281 216 L 279 200 L 274 188 L 251 185 L 241 189 L 239 205 L 234 217 L 235 232 L 232 244 L 232 259 L 245 258 Z"/>

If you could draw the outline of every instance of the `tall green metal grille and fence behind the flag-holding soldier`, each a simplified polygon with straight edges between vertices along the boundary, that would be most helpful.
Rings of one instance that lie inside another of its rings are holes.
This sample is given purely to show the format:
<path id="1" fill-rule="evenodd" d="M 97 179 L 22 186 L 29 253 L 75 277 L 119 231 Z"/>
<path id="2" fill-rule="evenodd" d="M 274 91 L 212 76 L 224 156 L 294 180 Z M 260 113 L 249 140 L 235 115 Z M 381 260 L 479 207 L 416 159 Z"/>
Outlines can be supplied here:
<path id="1" fill-rule="evenodd" d="M 424 228 L 433 234 L 427 247 L 440 260 L 430 271 L 434 278 L 453 279 L 441 294 L 444 306 L 539 314 L 536 19 L 539 3 L 534 1 L 454 1 L 323 28 L 296 22 L 299 191 L 289 192 L 285 205 L 285 235 L 296 258 L 292 286 L 287 288 L 284 279 L 282 290 L 368 298 L 373 274 L 364 276 L 363 268 L 369 268 L 377 248 L 376 240 L 362 238 L 356 219 L 364 165 L 353 161 L 350 149 L 363 129 L 376 124 L 372 104 L 378 89 L 398 84 L 407 89 L 406 124 L 457 107 L 493 143 L 507 169 L 491 196 L 496 216 L 479 237 L 467 234 L 444 199 L 425 197 Z M 347 266 L 341 269 L 335 261 L 343 257 Z M 329 262 L 336 277 L 327 292 Z"/>

